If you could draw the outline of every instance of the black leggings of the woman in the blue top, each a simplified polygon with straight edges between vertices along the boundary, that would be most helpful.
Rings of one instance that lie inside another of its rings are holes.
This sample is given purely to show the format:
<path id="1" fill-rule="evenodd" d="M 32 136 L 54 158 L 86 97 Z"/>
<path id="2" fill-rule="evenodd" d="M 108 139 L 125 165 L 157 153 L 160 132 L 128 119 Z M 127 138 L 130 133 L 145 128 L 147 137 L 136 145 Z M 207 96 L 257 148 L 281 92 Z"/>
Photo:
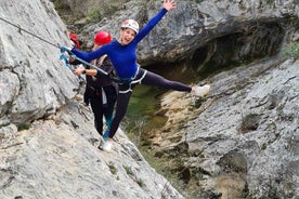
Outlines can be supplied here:
<path id="1" fill-rule="evenodd" d="M 120 121 L 125 117 L 125 114 L 127 111 L 129 101 L 132 94 L 132 89 L 138 83 L 144 84 L 144 85 L 158 87 L 166 90 L 181 91 L 181 92 L 191 92 L 192 90 L 192 87 L 190 85 L 186 85 L 177 81 L 169 81 L 161 76 L 147 71 L 143 68 L 139 68 L 139 72 L 131 83 L 119 83 L 118 85 L 119 92 L 117 96 L 116 111 L 109 130 L 110 138 L 114 137 Z"/>

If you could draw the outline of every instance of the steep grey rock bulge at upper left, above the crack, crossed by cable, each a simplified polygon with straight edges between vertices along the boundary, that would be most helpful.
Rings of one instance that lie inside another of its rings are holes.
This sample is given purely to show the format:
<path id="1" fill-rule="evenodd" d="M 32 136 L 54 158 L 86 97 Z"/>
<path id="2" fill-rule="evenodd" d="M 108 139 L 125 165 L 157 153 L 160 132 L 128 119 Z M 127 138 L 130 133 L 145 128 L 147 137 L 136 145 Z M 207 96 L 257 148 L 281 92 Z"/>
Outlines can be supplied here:
<path id="1" fill-rule="evenodd" d="M 1 18 L 56 45 L 68 43 L 49 1 L 1 1 Z M 58 62 L 60 49 L 1 23 L 0 124 L 26 123 L 53 114 L 75 96 L 76 77 Z"/>

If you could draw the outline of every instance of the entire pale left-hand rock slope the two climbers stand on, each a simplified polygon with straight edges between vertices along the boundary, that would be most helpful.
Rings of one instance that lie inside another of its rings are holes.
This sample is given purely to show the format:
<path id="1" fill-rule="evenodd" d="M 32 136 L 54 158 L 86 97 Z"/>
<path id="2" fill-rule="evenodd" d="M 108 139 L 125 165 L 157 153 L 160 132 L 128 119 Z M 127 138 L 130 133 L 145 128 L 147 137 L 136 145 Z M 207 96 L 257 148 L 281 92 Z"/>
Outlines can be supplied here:
<path id="1" fill-rule="evenodd" d="M 20 25 L 0 21 L 0 198 L 183 198 L 121 131 L 110 154 L 98 149 L 79 81 L 58 61 L 55 43 L 69 41 L 52 3 L 1 1 L 0 13 Z"/>

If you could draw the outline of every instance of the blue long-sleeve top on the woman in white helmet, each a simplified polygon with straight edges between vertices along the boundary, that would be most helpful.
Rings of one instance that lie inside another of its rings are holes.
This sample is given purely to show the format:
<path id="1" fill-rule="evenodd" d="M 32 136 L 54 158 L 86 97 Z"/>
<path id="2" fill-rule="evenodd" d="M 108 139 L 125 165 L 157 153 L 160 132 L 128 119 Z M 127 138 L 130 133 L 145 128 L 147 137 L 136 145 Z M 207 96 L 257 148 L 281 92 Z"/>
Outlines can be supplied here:
<path id="1" fill-rule="evenodd" d="M 114 69 L 119 79 L 131 79 L 134 77 L 138 63 L 136 63 L 136 45 L 138 43 L 159 23 L 162 16 L 167 13 L 166 9 L 161 9 L 148 23 L 140 30 L 134 39 L 127 45 L 121 45 L 117 40 L 113 40 L 110 43 L 103 45 L 102 48 L 86 53 L 77 49 L 73 49 L 72 52 L 87 62 L 91 62 L 100 56 L 107 54 L 114 65 Z"/>

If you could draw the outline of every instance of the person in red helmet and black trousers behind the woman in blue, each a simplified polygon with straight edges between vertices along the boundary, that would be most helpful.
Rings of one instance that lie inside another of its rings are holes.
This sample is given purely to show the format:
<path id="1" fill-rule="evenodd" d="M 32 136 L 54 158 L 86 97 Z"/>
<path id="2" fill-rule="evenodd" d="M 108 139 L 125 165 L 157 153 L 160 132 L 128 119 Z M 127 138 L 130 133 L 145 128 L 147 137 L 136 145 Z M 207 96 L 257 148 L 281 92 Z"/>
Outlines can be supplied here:
<path id="1" fill-rule="evenodd" d="M 99 31 L 94 36 L 93 40 L 93 51 L 100 49 L 102 45 L 109 43 L 112 41 L 110 34 L 107 31 Z M 103 55 L 92 61 L 91 64 L 98 66 L 102 70 L 113 74 L 113 65 L 108 56 Z M 75 75 L 86 74 L 87 85 L 84 92 L 84 103 L 90 104 L 94 116 L 94 125 L 98 133 L 103 136 L 103 117 L 106 119 L 106 128 L 109 129 L 114 106 L 117 98 L 117 87 L 112 81 L 112 79 L 98 72 L 96 69 L 89 68 L 82 69 L 78 67 Z"/>

